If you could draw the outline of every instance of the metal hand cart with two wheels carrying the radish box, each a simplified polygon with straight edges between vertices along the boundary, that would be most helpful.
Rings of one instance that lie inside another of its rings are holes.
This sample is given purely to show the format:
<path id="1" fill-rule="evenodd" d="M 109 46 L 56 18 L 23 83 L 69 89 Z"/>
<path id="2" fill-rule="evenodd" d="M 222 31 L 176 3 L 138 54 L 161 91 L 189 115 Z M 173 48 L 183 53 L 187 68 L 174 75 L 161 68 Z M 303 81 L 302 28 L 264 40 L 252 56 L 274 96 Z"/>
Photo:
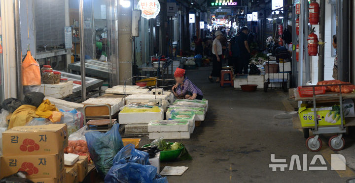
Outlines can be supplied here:
<path id="1" fill-rule="evenodd" d="M 319 138 L 320 134 L 337 133 L 337 135 L 332 136 L 328 145 L 333 151 L 340 151 L 344 148 L 345 140 L 343 134 L 346 133 L 348 126 L 355 126 L 355 118 L 347 118 L 347 123 L 344 124 L 344 114 L 343 114 L 343 99 L 354 99 L 355 93 L 344 94 L 341 92 L 341 87 L 350 84 L 329 84 L 329 85 L 312 85 L 312 86 L 302 86 L 303 88 L 312 88 L 312 97 L 300 97 L 297 89 L 290 89 L 290 98 L 294 98 L 296 101 L 303 101 L 308 103 L 313 103 L 314 115 L 311 118 L 314 120 L 314 127 L 302 127 L 301 121 L 298 114 L 292 115 L 293 128 L 302 129 L 303 135 L 306 140 L 306 146 L 310 151 L 319 151 L 322 147 L 322 141 Z M 339 86 L 339 93 L 329 93 L 329 94 L 316 94 L 316 87 L 327 87 L 327 86 Z M 340 105 L 340 125 L 329 125 L 329 126 L 319 126 L 320 116 L 317 115 L 317 102 L 318 103 L 329 103 L 339 101 Z M 314 117 L 317 116 L 317 117 Z M 309 130 L 312 131 L 314 136 L 309 137 Z"/>

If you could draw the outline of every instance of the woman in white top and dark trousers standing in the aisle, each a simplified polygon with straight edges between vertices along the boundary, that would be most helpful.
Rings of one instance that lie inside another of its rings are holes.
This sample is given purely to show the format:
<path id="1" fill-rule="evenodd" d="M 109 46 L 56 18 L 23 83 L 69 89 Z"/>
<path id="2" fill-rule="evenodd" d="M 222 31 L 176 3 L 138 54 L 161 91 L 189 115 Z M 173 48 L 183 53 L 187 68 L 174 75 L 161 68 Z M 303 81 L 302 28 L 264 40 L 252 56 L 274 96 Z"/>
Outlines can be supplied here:
<path id="1" fill-rule="evenodd" d="M 222 45 L 219 42 L 219 39 L 222 38 L 223 33 L 221 31 L 216 31 L 214 33 L 216 38 L 213 40 L 212 44 L 212 53 L 213 53 L 213 59 L 212 59 L 212 73 L 209 76 L 209 79 L 211 82 L 213 82 L 212 77 L 217 77 L 216 82 L 219 82 L 220 80 L 220 71 L 222 70 Z"/>

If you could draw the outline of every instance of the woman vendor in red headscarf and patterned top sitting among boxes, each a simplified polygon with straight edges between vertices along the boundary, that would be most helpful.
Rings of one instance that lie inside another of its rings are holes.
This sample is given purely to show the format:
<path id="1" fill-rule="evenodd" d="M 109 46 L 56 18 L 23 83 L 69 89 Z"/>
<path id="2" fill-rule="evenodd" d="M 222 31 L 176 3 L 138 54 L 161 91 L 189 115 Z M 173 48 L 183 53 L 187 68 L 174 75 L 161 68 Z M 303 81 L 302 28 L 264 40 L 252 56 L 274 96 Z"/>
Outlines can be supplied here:
<path id="1" fill-rule="evenodd" d="M 190 79 L 185 77 L 184 69 L 177 68 L 174 77 L 177 83 L 173 86 L 172 90 L 178 99 L 203 99 L 202 91 Z"/>

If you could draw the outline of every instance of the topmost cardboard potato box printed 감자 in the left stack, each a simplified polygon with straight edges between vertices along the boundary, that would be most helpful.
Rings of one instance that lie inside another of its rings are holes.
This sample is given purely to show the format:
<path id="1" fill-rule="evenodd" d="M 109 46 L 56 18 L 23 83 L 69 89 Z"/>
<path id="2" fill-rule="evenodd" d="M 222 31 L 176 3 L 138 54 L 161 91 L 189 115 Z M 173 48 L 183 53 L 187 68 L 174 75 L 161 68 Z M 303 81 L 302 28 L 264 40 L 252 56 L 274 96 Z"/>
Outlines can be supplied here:
<path id="1" fill-rule="evenodd" d="M 66 124 L 14 127 L 2 133 L 4 156 L 55 155 L 67 146 Z"/>

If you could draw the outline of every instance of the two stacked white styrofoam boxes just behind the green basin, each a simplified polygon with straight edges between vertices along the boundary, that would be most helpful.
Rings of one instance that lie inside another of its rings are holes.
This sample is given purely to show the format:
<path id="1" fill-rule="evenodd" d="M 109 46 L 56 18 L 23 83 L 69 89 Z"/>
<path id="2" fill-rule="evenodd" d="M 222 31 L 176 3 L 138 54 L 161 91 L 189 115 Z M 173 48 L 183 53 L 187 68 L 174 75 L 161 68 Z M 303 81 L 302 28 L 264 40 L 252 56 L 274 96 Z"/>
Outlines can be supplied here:
<path id="1" fill-rule="evenodd" d="M 190 138 L 195 123 L 188 120 L 159 120 L 148 124 L 149 139 L 164 137 L 165 139 Z M 192 131 L 191 131 L 192 130 Z"/>

